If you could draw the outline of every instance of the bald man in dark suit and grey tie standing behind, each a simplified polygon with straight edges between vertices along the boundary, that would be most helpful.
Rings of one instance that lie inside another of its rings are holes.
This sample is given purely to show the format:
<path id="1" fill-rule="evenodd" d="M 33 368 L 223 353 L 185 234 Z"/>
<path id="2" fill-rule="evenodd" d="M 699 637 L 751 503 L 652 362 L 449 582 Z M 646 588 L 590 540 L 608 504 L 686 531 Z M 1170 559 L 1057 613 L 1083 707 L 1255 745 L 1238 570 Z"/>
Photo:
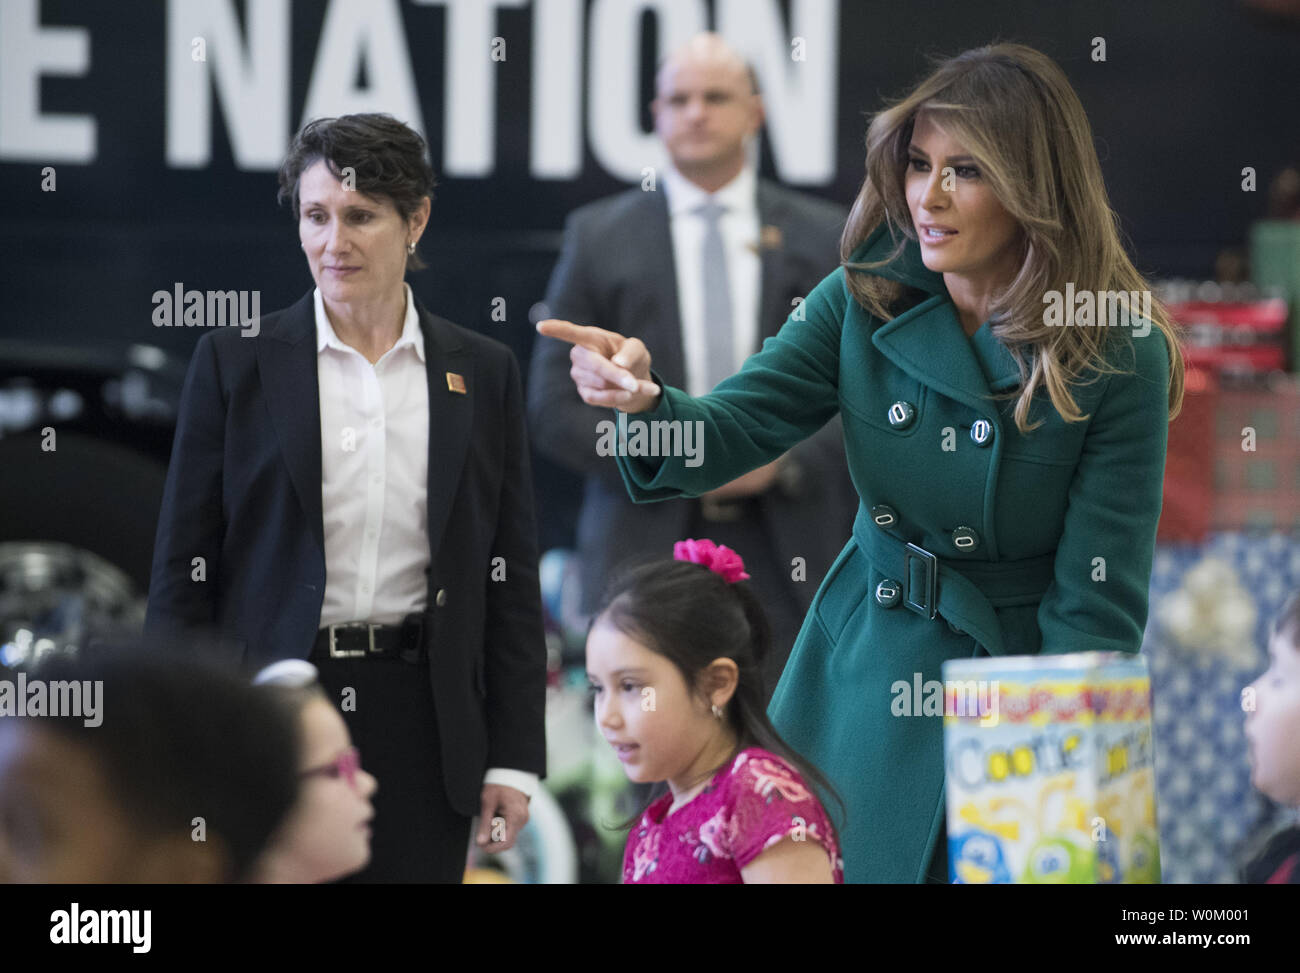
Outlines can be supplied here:
<path id="1" fill-rule="evenodd" d="M 755 177 L 748 156 L 762 100 L 753 72 L 716 35 L 664 61 L 651 109 L 672 165 L 662 181 L 569 215 L 546 316 L 641 338 L 666 382 L 703 394 L 838 265 L 845 213 Z M 610 416 L 575 392 L 568 345 L 541 338 L 529 423 L 542 455 L 586 477 L 577 532 L 584 611 L 621 563 L 671 557 L 685 537 L 727 544 L 745 558 L 772 623 L 771 693 L 857 510 L 838 418 L 698 500 L 636 505 L 595 447 L 597 424 Z"/>

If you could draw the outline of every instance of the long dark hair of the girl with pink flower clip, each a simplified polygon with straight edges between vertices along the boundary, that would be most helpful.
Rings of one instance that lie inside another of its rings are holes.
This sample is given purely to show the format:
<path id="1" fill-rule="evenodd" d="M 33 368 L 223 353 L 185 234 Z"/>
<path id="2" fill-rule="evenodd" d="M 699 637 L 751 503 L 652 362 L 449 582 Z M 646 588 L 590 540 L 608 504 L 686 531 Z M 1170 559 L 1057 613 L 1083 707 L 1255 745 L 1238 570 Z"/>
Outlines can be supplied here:
<path id="1" fill-rule="evenodd" d="M 625 571 L 606 591 L 593 618 L 603 620 L 672 662 L 696 692 L 699 675 L 715 658 L 729 658 L 740 670 L 727 719 L 737 744 L 762 747 L 789 762 L 818 791 L 833 797 L 848 823 L 844 800 L 812 764 L 801 757 L 767 718 L 763 663 L 772 630 L 758 596 L 745 581 L 728 583 L 703 565 L 654 561 Z M 649 806 L 649 804 L 646 805 Z M 641 820 L 642 808 L 623 827 Z"/>

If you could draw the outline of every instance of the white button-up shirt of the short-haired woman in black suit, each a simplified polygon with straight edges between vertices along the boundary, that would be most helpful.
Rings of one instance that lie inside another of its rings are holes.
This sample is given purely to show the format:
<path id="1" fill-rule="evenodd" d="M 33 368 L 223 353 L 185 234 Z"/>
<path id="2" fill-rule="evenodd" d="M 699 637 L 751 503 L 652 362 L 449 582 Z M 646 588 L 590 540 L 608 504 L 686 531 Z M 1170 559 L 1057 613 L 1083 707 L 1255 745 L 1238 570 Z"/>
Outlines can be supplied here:
<path id="1" fill-rule="evenodd" d="M 320 626 L 398 624 L 422 611 L 429 567 L 429 377 L 406 287 L 402 336 L 370 364 L 344 345 L 317 287 L 325 598 Z M 484 783 L 532 796 L 537 774 L 493 767 Z"/>

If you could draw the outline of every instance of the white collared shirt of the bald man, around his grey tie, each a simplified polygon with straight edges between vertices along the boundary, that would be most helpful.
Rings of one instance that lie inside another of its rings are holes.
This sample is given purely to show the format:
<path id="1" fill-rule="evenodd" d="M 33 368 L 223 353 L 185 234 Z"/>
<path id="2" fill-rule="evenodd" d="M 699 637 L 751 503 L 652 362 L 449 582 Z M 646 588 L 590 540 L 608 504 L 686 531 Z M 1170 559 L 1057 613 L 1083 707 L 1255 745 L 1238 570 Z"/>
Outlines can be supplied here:
<path id="1" fill-rule="evenodd" d="M 692 395 L 711 392 L 708 385 L 708 343 L 705 328 L 705 285 L 702 250 L 705 219 L 693 212 L 701 203 L 714 199 L 727 207 L 719 220 L 723 247 L 727 252 L 727 277 L 731 285 L 732 371 L 758 350 L 759 256 L 758 178 L 746 165 L 740 174 L 716 193 L 705 193 L 672 165 L 663 172 L 668 202 L 668 224 L 672 230 L 672 258 L 677 272 L 677 310 L 681 316 L 681 345 L 686 367 L 686 390 Z"/>

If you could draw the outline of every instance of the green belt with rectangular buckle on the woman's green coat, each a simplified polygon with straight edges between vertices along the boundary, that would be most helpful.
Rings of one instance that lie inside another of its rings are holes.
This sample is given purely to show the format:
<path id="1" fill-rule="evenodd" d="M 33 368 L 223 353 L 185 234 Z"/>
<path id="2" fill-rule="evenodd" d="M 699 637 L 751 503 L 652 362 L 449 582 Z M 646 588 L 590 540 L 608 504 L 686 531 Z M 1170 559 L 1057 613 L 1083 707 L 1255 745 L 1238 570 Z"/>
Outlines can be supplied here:
<path id="1" fill-rule="evenodd" d="M 945 561 L 878 527 L 866 506 L 858 507 L 853 540 L 878 571 L 902 585 L 904 605 L 924 617 L 941 614 L 991 656 L 1008 654 L 994 609 L 1041 601 L 1054 576 L 1056 552 L 1019 561 Z"/>

